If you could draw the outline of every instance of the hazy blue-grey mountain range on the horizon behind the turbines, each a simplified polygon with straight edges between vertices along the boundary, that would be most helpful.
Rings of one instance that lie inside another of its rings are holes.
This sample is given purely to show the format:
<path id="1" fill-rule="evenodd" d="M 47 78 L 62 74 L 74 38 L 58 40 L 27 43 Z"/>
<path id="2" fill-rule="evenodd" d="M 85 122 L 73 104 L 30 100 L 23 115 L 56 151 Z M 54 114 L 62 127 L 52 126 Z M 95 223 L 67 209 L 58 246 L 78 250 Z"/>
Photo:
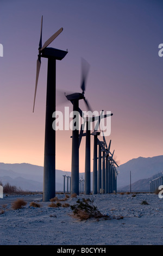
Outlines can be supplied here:
<path id="1" fill-rule="evenodd" d="M 117 190 L 128 191 L 131 187 L 134 191 L 149 191 L 149 180 L 156 178 L 163 172 L 163 156 L 138 157 L 121 164 L 117 168 Z M 63 170 L 55 171 L 56 191 L 63 191 L 63 175 L 71 176 L 71 172 Z M 92 186 L 91 172 L 91 186 Z M 79 173 L 79 177 L 84 179 L 84 172 Z M 42 191 L 43 187 L 43 167 L 29 163 L 0 163 L 0 181 L 2 184 L 9 182 L 10 185 L 20 187 L 27 191 Z"/>

